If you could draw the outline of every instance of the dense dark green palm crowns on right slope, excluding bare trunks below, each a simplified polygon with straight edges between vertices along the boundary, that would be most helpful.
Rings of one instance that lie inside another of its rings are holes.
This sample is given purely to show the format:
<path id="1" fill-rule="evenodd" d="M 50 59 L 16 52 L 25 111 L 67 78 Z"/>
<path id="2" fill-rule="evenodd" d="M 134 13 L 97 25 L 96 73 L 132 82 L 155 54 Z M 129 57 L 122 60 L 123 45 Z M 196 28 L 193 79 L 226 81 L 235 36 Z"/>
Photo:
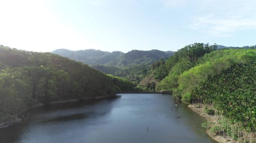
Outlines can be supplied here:
<path id="1" fill-rule="evenodd" d="M 232 123 L 241 124 L 247 131 L 256 127 L 256 62 L 234 64 L 220 74 L 208 76 L 193 91 L 205 103 L 229 118 Z"/>

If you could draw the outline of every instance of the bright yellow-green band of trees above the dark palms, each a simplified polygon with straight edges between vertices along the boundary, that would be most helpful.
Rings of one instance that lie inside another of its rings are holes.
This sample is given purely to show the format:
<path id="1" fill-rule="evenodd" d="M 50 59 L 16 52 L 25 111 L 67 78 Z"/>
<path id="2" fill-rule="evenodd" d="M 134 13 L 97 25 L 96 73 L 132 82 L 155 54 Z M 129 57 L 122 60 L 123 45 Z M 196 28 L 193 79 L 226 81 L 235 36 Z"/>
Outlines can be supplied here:
<path id="1" fill-rule="evenodd" d="M 256 60 L 255 49 L 231 49 L 213 51 L 205 54 L 197 66 L 183 72 L 178 78 L 179 89 L 194 90 L 200 82 L 204 82 L 209 75 L 221 73 L 234 63 L 247 63 Z"/>

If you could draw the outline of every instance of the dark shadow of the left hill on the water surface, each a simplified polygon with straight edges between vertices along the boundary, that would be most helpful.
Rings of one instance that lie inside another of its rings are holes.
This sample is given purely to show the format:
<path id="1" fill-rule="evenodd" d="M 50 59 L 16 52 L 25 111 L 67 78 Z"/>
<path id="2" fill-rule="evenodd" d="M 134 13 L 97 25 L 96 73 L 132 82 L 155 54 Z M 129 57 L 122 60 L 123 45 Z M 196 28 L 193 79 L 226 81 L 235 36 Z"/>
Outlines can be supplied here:
<path id="1" fill-rule="evenodd" d="M 22 115 L 26 117 L 29 114 L 28 123 L 22 122 L 0 129 L 0 143 L 20 142 L 20 140 L 24 138 L 23 135 L 27 133 L 30 128 L 37 127 L 38 125 L 86 120 L 87 118 L 93 118 L 97 115 L 107 115 L 107 113 L 112 110 L 113 101 L 118 98 L 119 97 L 110 97 L 47 104 L 29 109 L 18 116 L 23 119 Z"/>

